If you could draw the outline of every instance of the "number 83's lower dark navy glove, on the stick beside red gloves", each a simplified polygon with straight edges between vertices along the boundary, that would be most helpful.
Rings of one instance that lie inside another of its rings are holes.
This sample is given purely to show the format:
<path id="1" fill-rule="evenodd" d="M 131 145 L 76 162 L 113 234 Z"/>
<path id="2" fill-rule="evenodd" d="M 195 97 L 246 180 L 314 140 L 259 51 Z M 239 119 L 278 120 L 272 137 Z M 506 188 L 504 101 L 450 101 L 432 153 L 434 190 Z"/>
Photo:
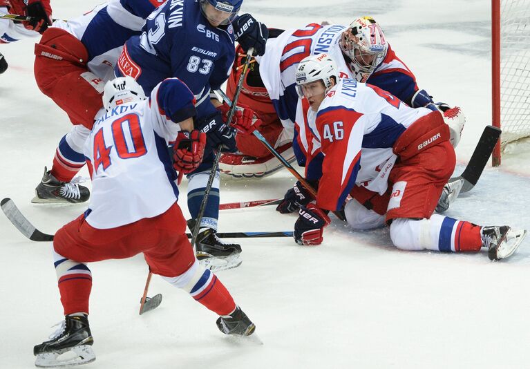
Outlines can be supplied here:
<path id="1" fill-rule="evenodd" d="M 225 124 L 220 111 L 199 120 L 196 126 L 199 131 L 206 133 L 207 144 L 212 149 L 217 149 L 220 145 L 223 145 L 223 151 L 228 151 L 229 153 L 237 151 L 236 129 Z"/>

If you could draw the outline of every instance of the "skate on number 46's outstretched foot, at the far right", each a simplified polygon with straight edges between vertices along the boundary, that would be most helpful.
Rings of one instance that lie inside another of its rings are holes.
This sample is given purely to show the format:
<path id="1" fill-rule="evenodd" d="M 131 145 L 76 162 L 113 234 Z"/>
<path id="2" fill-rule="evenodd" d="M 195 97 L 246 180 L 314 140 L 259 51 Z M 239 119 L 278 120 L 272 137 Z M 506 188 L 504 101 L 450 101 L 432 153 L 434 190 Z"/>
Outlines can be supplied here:
<path id="1" fill-rule="evenodd" d="M 527 236 L 527 231 L 511 229 L 507 225 L 482 227 L 480 231 L 482 247 L 488 247 L 490 260 L 504 259 L 519 247 Z"/>

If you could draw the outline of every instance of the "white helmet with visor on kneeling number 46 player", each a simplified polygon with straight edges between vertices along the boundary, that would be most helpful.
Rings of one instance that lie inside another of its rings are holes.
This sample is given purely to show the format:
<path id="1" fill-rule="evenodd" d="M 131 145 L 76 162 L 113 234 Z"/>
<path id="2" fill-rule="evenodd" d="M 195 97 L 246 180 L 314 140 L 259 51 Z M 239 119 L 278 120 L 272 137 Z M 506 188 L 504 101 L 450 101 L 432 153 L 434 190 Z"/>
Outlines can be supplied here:
<path id="1" fill-rule="evenodd" d="M 328 54 L 310 55 L 305 57 L 296 68 L 296 92 L 303 97 L 302 85 L 322 80 L 326 92 L 332 86 L 331 77 L 339 82 L 339 68 Z"/>

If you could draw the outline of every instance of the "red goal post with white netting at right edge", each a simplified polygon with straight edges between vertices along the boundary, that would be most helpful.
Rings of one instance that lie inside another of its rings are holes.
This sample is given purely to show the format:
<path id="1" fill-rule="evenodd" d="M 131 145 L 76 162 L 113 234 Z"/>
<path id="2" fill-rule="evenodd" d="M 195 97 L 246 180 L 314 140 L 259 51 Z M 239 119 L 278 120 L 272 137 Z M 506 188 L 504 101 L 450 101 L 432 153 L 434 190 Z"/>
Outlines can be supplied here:
<path id="1" fill-rule="evenodd" d="M 491 0 L 492 124 L 502 129 L 493 151 L 530 136 L 530 0 Z"/>

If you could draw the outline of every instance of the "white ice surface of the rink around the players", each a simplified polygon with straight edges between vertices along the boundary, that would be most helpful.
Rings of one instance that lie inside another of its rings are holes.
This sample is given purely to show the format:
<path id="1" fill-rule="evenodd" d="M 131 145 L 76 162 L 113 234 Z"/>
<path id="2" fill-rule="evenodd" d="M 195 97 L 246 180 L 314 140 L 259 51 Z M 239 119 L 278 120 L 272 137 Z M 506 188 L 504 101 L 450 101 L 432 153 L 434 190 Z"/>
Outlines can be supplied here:
<path id="1" fill-rule="evenodd" d="M 101 1 L 53 0 L 54 17 Z M 276 28 L 372 15 L 397 55 L 435 100 L 460 105 L 467 123 L 457 149 L 462 171 L 491 122 L 490 5 L 487 0 L 245 0 L 243 12 Z M 32 72 L 36 39 L 1 45 L 0 198 L 10 197 L 53 233 L 86 205 L 32 205 L 44 166 L 70 129 Z M 88 173 L 82 171 L 83 176 Z M 287 171 L 228 180 L 221 202 L 278 198 Z M 180 206 L 186 209 L 186 181 Z M 446 215 L 530 229 L 530 145 L 487 167 Z M 149 196 L 149 193 L 146 193 Z M 220 231 L 291 231 L 296 216 L 274 207 L 222 211 Z M 50 243 L 24 238 L 0 214 L 0 368 L 32 368 L 32 348 L 62 319 Z M 338 220 L 319 247 L 291 238 L 240 240 L 243 265 L 219 272 L 256 323 L 263 346 L 216 328 L 216 315 L 155 277 L 157 310 L 138 316 L 147 267 L 141 256 L 89 265 L 97 360 L 86 368 L 529 368 L 530 239 L 507 261 L 480 254 L 402 252 L 388 231 L 352 232 Z"/>

